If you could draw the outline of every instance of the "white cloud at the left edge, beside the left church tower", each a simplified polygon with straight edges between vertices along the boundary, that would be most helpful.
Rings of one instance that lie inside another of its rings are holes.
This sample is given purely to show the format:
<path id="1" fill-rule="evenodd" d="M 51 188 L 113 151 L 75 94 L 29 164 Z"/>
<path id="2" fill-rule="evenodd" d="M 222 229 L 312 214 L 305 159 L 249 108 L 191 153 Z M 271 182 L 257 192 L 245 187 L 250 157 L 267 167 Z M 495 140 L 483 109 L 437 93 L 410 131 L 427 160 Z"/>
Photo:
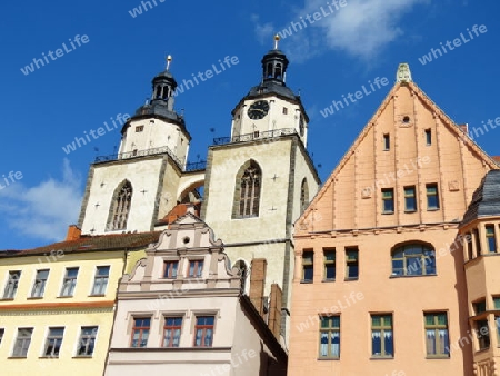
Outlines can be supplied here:
<path id="1" fill-rule="evenodd" d="M 19 235 L 50 241 L 63 240 L 69 225 L 76 224 L 80 210 L 81 177 L 68 159 L 62 179 L 49 178 L 34 187 L 22 180 L 0 190 L 3 222 Z"/>

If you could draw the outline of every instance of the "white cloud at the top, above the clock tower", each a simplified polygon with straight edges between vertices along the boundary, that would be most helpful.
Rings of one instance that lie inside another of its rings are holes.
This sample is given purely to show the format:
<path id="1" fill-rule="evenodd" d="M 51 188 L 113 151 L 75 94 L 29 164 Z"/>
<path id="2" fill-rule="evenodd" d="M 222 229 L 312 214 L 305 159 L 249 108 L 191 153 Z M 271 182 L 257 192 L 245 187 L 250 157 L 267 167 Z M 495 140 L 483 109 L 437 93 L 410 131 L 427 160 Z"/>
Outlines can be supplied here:
<path id="1" fill-rule="evenodd" d="M 300 22 L 302 18 L 307 27 L 293 30 L 292 36 L 282 41 L 288 55 L 296 61 L 307 60 L 324 50 L 342 50 L 353 57 L 369 59 L 404 33 L 404 26 L 400 24 L 404 14 L 417 4 L 430 3 L 429 0 L 347 0 L 347 6 L 338 10 L 330 6 L 334 10 L 331 12 L 328 7 L 331 2 L 306 0 L 304 7 L 296 10 L 290 21 L 281 28 L 274 28 L 271 23 L 261 24 L 259 18 L 253 17 L 256 33 L 261 40 L 262 34 L 269 37 L 288 29 L 291 22 Z M 322 14 L 321 20 L 314 23 L 306 21 L 307 16 L 314 12 Z"/>

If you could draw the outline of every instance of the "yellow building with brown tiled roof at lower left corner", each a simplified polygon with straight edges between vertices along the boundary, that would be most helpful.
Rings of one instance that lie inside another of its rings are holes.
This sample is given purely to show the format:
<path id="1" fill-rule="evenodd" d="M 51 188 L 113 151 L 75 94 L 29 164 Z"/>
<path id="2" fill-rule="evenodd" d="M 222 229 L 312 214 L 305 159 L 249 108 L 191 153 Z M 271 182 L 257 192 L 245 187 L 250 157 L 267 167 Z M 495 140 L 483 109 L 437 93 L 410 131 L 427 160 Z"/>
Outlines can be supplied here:
<path id="1" fill-rule="evenodd" d="M 118 281 L 157 232 L 79 237 L 0 263 L 0 374 L 101 375 Z"/>

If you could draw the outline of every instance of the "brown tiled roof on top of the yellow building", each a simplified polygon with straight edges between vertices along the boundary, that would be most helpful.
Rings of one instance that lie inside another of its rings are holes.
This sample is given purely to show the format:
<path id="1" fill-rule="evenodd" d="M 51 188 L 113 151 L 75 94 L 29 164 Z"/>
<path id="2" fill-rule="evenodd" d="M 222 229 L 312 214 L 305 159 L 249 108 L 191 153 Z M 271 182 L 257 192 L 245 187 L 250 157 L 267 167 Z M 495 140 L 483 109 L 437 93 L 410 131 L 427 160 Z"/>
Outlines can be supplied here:
<path id="1" fill-rule="evenodd" d="M 53 243 L 43 247 L 23 250 L 0 251 L 1 256 L 28 256 L 40 255 L 50 251 L 62 250 L 64 254 L 86 250 L 112 250 L 124 248 L 146 247 L 150 243 L 157 243 L 161 231 L 139 232 L 139 234 L 111 234 L 98 236 L 82 236 L 76 240 L 64 240 Z"/>

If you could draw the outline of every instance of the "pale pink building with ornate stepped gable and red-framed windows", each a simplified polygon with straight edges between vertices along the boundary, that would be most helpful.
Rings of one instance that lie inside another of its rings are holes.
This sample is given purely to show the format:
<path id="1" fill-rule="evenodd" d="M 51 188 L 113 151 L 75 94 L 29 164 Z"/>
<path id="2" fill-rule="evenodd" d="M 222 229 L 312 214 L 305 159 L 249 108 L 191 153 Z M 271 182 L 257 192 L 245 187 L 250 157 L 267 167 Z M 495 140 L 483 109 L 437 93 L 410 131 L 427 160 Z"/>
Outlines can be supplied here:
<path id="1" fill-rule="evenodd" d="M 169 225 L 118 288 L 104 375 L 277 375 L 287 373 L 281 290 L 262 305 L 266 260 L 233 267 L 222 241 L 192 208 Z"/>

